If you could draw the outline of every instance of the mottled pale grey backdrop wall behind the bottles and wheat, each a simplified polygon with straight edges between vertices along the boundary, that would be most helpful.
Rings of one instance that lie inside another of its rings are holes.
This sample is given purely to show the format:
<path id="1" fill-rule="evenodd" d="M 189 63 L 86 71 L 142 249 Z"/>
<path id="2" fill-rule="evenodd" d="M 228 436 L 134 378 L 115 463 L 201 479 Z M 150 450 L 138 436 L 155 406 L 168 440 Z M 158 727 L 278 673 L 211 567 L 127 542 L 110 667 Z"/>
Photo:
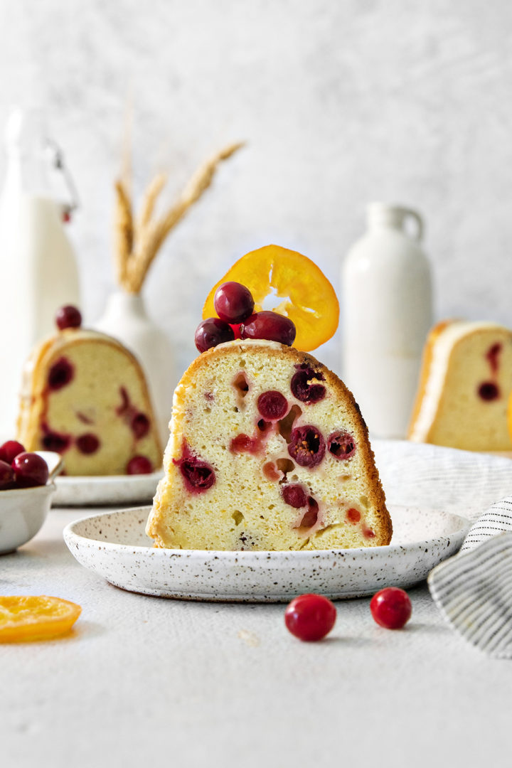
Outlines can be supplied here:
<path id="1" fill-rule="evenodd" d="M 438 316 L 512 326 L 511 44 L 508 0 L 0 0 L 0 124 L 35 101 L 64 146 L 89 322 L 114 284 L 127 101 L 138 193 L 163 168 L 171 194 L 211 151 L 248 142 L 144 290 L 180 367 L 233 260 L 276 242 L 338 286 L 375 199 L 424 214 Z M 320 353 L 335 369 L 338 345 Z"/>

